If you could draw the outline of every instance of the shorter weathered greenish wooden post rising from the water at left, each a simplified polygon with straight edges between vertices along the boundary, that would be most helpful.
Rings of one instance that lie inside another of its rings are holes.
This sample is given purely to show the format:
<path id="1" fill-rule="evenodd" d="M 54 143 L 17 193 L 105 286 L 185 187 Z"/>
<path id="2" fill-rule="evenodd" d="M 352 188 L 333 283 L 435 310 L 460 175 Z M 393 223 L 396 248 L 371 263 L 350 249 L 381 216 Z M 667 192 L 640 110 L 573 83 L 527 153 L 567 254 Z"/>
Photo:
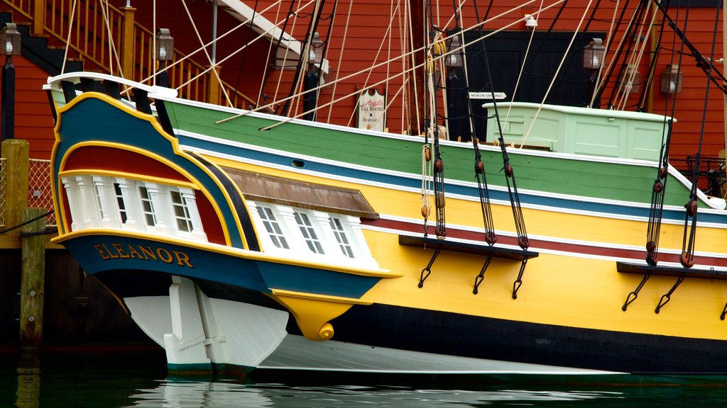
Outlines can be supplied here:
<path id="1" fill-rule="evenodd" d="M 20 348 L 40 348 L 43 340 L 43 293 L 45 279 L 45 208 L 25 208 L 25 220 L 36 219 L 21 232 L 23 262 L 20 266 Z M 28 235 L 34 234 L 34 235 Z"/>

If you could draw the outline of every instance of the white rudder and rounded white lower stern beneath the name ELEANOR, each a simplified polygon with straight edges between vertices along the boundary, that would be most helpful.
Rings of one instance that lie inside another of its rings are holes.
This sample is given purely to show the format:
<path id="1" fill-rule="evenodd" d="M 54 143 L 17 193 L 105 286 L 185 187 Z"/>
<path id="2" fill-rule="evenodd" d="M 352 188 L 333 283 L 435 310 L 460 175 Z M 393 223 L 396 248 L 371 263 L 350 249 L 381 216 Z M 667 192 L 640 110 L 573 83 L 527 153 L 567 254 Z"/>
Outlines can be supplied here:
<path id="1" fill-rule="evenodd" d="M 174 277 L 169 296 L 124 302 L 175 369 L 204 370 L 205 364 L 257 367 L 286 336 L 287 312 L 209 298 L 182 277 Z"/>

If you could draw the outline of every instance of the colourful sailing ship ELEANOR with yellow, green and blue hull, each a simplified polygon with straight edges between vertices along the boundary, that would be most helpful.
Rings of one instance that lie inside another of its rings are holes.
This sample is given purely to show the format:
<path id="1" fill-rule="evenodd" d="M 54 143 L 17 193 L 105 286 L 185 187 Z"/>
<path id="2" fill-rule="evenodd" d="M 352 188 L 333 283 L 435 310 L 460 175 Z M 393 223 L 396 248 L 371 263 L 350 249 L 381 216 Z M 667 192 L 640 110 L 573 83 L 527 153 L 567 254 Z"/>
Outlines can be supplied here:
<path id="1" fill-rule="evenodd" d="M 532 30 L 539 12 L 496 27 Z M 490 78 L 465 107 L 486 118 L 458 140 L 436 93 L 467 78 L 439 72 L 486 51 L 486 35 L 455 20 L 406 54 L 404 72 L 426 79 L 402 107 L 426 109 L 405 134 L 280 109 L 294 97 L 239 109 L 161 78 L 49 78 L 55 242 L 172 372 L 725 372 L 726 203 L 670 164 L 674 112 L 590 106 L 623 95 L 600 82 L 621 37 L 590 43 L 589 106 L 499 99 Z M 300 106 L 326 86 L 313 28 L 299 51 L 316 82 Z M 715 60 L 699 62 L 716 73 Z"/>

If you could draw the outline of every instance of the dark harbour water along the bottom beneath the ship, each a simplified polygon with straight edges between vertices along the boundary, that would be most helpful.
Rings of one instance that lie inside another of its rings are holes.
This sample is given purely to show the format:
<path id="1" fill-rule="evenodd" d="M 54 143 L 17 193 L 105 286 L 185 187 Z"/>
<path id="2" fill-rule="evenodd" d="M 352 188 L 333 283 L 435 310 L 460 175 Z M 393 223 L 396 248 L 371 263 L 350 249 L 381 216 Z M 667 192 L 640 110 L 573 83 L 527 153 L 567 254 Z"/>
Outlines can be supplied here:
<path id="1" fill-rule="evenodd" d="M 262 373 L 168 378 L 158 351 L 0 354 L 0 407 L 720 407 L 727 381 L 632 376 L 628 384 L 542 378 L 361 378 Z"/>

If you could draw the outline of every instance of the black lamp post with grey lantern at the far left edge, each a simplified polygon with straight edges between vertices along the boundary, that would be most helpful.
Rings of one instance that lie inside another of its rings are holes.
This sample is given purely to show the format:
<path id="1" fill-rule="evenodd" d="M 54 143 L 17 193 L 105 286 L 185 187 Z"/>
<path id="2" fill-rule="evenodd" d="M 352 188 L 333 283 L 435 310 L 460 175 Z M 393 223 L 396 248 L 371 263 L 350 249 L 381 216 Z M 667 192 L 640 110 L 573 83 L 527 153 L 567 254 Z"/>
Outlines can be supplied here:
<path id="1" fill-rule="evenodd" d="M 5 55 L 2 68 L 2 94 L 0 118 L 0 136 L 2 140 L 13 139 L 15 136 L 15 67 L 12 57 L 20 55 L 20 32 L 14 23 L 7 23 L 0 31 L 0 44 Z"/>

